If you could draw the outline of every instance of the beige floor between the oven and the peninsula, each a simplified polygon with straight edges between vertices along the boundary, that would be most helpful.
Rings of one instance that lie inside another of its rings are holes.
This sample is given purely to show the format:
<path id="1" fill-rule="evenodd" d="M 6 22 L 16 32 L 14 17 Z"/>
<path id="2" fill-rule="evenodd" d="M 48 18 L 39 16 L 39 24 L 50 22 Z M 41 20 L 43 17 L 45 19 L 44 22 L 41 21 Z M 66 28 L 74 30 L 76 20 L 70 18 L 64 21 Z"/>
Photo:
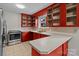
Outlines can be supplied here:
<path id="1" fill-rule="evenodd" d="M 31 56 L 31 46 L 28 42 L 6 46 L 3 48 L 4 56 Z"/>

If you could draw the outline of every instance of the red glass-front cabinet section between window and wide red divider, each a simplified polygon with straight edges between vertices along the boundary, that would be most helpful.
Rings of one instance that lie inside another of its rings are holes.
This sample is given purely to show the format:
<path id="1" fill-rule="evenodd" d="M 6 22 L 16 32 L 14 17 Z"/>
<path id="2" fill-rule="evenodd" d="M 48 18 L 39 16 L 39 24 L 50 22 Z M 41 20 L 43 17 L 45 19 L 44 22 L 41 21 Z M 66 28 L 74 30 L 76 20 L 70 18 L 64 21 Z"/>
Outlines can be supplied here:
<path id="1" fill-rule="evenodd" d="M 50 27 L 60 25 L 60 4 L 54 4 L 48 9 L 47 22 Z"/>

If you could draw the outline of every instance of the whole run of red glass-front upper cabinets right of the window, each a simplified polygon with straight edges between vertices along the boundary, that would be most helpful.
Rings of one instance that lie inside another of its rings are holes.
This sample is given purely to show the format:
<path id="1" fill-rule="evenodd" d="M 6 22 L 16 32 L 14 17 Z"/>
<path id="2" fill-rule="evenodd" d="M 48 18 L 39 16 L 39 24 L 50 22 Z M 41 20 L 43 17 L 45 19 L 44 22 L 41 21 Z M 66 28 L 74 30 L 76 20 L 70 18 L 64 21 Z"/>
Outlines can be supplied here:
<path id="1" fill-rule="evenodd" d="M 78 3 L 55 3 L 47 12 L 48 27 L 77 27 L 79 26 Z"/>

